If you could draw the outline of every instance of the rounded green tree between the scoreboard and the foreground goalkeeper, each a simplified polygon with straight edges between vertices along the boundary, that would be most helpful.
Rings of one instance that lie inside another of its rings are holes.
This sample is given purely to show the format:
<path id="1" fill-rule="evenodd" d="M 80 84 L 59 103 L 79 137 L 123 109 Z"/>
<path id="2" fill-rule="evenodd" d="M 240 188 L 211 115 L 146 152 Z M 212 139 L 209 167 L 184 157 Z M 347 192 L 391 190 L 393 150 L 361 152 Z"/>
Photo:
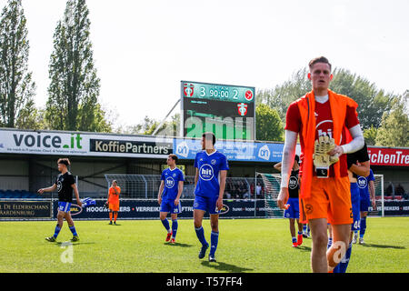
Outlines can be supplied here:
<path id="1" fill-rule="evenodd" d="M 278 112 L 268 105 L 255 107 L 255 137 L 264 141 L 284 141 L 284 126 Z"/>

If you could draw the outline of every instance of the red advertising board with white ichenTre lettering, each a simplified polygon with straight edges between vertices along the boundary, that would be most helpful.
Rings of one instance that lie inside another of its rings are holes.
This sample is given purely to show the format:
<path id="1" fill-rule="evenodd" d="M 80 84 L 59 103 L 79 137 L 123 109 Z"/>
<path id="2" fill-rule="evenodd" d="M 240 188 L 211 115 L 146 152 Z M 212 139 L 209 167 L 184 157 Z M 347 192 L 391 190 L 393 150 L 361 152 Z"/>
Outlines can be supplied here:
<path id="1" fill-rule="evenodd" d="M 368 154 L 374 166 L 409 166 L 409 148 L 368 146 Z"/>

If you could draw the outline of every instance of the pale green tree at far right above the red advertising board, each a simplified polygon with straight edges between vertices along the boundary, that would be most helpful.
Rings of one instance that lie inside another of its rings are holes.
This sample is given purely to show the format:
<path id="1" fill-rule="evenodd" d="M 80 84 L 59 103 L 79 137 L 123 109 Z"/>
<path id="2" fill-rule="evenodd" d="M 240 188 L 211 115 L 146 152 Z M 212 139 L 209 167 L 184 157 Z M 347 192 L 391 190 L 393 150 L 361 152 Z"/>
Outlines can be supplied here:
<path id="1" fill-rule="evenodd" d="M 409 116 L 405 108 L 407 95 L 396 98 L 390 113 L 382 115 L 375 146 L 409 146 Z"/>

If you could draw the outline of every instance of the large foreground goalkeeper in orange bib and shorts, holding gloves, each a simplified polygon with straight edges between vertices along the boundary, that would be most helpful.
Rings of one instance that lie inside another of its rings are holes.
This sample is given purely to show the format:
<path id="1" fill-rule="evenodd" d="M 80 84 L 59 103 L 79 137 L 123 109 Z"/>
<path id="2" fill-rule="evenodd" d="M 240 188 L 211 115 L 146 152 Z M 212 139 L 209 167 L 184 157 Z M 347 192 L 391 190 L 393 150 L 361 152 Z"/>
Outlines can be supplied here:
<path id="1" fill-rule="evenodd" d="M 277 204 L 284 209 L 294 161 L 297 135 L 301 145 L 301 216 L 311 227 L 313 272 L 332 272 L 349 243 L 351 193 L 346 155 L 364 146 L 357 104 L 353 99 L 328 89 L 333 75 L 325 57 L 309 63 L 308 78 L 313 90 L 294 101 L 287 110 L 282 161 L 282 184 Z M 353 140 L 345 142 L 345 130 Z M 326 249 L 327 223 L 333 228 L 333 245 Z"/>

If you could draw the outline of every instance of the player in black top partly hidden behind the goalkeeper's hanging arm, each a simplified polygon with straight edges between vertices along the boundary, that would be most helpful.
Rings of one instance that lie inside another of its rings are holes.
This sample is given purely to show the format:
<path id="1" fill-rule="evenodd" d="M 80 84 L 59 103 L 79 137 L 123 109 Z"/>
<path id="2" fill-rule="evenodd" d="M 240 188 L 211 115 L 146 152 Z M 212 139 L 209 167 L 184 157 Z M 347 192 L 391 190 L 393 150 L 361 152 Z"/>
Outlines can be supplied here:
<path id="1" fill-rule="evenodd" d="M 300 157 L 295 155 L 293 170 L 291 171 L 290 180 L 288 183 L 289 198 L 287 201 L 288 208 L 284 211 L 284 217 L 289 218 L 290 221 L 290 234 L 293 240 L 293 247 L 301 246 L 303 244 L 303 224 L 300 223 L 300 202 L 298 199 L 298 193 L 300 186 L 298 183 L 298 173 L 300 166 L 298 162 Z M 281 171 L 281 162 L 274 165 L 274 168 Z M 298 234 L 295 236 L 295 221 L 298 226 Z"/>

